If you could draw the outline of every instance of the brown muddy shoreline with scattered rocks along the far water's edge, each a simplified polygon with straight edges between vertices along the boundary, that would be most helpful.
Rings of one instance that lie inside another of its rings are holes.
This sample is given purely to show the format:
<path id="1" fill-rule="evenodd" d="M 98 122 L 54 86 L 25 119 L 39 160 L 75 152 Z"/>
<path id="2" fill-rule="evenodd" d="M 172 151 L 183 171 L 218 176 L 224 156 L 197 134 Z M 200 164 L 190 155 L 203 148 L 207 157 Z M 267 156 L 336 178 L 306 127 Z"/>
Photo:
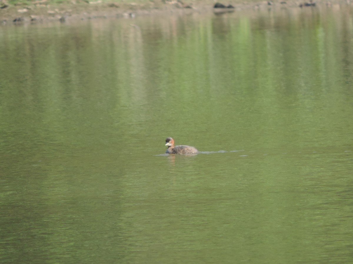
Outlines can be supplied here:
<path id="1" fill-rule="evenodd" d="M 231 4 L 233 8 L 214 8 L 215 1 L 206 0 L 203 2 L 191 2 L 185 4 L 177 1 L 143 2 L 143 3 L 116 3 L 72 1 L 71 4 L 45 4 L 47 0 L 32 2 L 31 5 L 7 5 L 0 0 L 0 25 L 36 24 L 48 22 L 74 22 L 79 20 L 99 18 L 134 18 L 136 16 L 163 15 L 163 14 L 190 14 L 197 13 L 227 13 L 234 11 L 250 11 L 270 8 L 319 8 L 325 5 L 328 7 L 340 7 L 341 5 L 352 5 L 353 0 L 340 1 L 317 1 L 315 6 L 304 6 L 309 1 L 259 1 L 259 2 L 222 2 L 225 5 Z M 6 2 L 5 2 L 6 3 Z M 313 3 L 313 2 L 312 2 Z M 303 5 L 300 7 L 300 5 Z M 335 8 L 336 9 L 336 8 Z"/>

